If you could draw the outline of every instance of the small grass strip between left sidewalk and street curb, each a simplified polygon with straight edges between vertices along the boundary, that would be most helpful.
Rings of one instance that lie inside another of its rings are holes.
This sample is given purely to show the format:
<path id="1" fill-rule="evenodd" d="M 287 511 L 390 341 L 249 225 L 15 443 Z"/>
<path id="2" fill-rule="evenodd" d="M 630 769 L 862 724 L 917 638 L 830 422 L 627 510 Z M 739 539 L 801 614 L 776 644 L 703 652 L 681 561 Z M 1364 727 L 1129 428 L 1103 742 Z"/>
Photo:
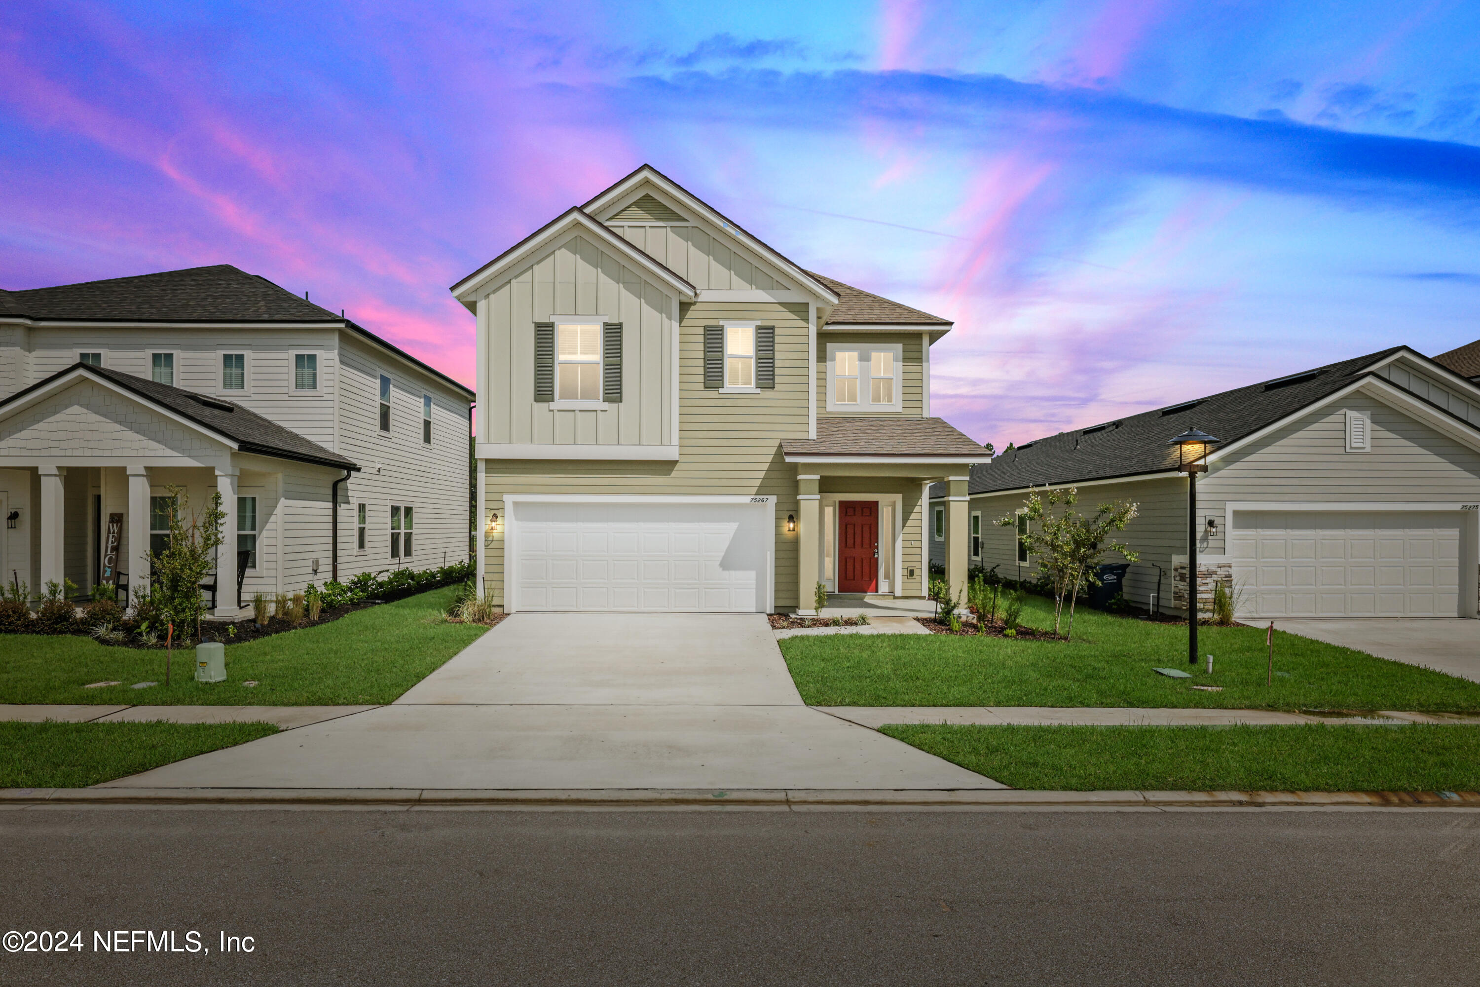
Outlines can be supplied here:
<path id="1" fill-rule="evenodd" d="M 277 730 L 272 724 L 0 722 L 0 789 L 83 789 Z"/>

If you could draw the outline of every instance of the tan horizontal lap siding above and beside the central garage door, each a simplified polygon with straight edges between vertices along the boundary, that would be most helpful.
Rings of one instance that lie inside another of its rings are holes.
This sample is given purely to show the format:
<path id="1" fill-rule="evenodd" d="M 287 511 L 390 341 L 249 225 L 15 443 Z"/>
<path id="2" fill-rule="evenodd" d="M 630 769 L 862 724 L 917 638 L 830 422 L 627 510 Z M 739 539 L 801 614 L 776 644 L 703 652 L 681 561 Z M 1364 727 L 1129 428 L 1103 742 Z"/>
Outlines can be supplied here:
<path id="1" fill-rule="evenodd" d="M 704 326 L 755 321 L 776 326 L 776 389 L 721 394 L 704 388 Z M 484 516 L 506 516 L 508 494 L 667 494 L 776 497 L 776 605 L 796 607 L 796 468 L 781 439 L 807 438 L 808 312 L 805 303 L 697 302 L 679 326 L 678 462 L 480 459 Z M 528 357 L 533 366 L 533 352 Z M 517 367 L 514 373 L 519 373 Z M 503 602 L 503 537 L 484 536 L 485 589 Z"/>

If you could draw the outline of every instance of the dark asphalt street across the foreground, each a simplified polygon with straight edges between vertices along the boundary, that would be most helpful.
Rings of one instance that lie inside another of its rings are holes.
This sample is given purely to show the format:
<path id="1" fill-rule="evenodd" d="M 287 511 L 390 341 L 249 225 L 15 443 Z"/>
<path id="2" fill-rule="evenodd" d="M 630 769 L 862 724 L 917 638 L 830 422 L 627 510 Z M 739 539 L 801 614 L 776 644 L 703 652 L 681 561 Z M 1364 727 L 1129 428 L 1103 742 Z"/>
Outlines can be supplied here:
<path id="1" fill-rule="evenodd" d="M 13 811 L 0 860 L 0 931 L 81 932 L 80 951 L 0 953 L 7 986 L 1480 971 L 1477 812 Z M 138 950 L 96 946 L 114 931 Z"/>

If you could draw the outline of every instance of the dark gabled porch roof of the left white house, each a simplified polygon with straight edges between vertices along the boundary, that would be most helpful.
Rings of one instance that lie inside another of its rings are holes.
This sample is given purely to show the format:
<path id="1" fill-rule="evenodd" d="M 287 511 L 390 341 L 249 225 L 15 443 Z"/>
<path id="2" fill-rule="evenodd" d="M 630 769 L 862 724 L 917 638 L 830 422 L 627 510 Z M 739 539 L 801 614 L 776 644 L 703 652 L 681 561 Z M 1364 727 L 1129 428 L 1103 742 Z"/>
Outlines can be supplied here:
<path id="1" fill-rule="evenodd" d="M 185 391 L 184 388 L 172 388 L 167 383 L 158 383 L 155 380 L 147 380 L 145 377 L 135 377 L 129 373 L 110 370 L 107 367 L 93 367 L 92 364 L 84 363 L 75 363 L 65 370 L 53 373 L 50 377 L 37 380 L 22 391 L 16 391 L 4 401 L 0 401 L 0 414 L 3 414 L 12 404 L 24 401 L 37 391 L 44 391 L 73 374 L 98 377 L 105 383 L 118 386 L 147 404 L 154 404 L 191 422 L 192 425 L 198 425 L 209 432 L 215 432 L 216 435 L 229 439 L 243 453 L 258 453 L 262 456 L 272 456 L 275 459 L 292 459 L 300 463 L 333 466 L 336 469 L 360 469 L 360 466 L 339 453 L 333 453 L 318 442 L 303 438 L 297 432 L 286 429 L 277 422 L 265 419 L 250 408 L 241 407 L 235 401 L 195 394 L 194 391 Z"/>

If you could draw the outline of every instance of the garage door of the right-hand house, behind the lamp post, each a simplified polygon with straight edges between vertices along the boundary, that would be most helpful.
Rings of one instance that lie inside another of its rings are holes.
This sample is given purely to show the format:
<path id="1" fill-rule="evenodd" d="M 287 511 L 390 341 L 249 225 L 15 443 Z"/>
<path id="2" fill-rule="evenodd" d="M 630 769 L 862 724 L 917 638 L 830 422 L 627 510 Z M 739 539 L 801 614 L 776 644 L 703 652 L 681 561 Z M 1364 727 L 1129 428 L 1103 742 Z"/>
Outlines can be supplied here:
<path id="1" fill-rule="evenodd" d="M 1237 511 L 1234 580 L 1255 617 L 1455 617 L 1459 518 Z"/>

